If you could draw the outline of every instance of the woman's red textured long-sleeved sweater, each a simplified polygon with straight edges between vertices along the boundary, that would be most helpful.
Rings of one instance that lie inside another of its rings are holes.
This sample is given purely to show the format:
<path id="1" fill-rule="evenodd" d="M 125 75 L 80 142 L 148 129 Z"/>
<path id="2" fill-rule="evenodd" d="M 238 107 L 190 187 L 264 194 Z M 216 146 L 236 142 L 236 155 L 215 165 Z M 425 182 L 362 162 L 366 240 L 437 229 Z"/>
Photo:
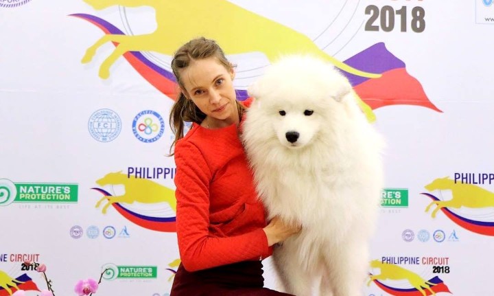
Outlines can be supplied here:
<path id="1" fill-rule="evenodd" d="M 176 227 L 180 259 L 198 271 L 271 254 L 264 207 L 235 124 L 198 124 L 176 143 Z"/>

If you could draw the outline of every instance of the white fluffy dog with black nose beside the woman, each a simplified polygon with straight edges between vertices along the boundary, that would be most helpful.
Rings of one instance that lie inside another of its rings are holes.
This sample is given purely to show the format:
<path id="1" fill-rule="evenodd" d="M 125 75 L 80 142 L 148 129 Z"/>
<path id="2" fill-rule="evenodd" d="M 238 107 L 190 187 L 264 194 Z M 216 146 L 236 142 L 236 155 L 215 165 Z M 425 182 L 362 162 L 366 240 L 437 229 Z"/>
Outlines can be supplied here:
<path id="1" fill-rule="evenodd" d="M 349 81 L 310 56 L 287 56 L 248 89 L 242 134 L 270 218 L 302 231 L 274 250 L 288 293 L 361 296 L 382 189 L 382 140 Z M 320 279 L 320 281 L 318 281 Z"/>

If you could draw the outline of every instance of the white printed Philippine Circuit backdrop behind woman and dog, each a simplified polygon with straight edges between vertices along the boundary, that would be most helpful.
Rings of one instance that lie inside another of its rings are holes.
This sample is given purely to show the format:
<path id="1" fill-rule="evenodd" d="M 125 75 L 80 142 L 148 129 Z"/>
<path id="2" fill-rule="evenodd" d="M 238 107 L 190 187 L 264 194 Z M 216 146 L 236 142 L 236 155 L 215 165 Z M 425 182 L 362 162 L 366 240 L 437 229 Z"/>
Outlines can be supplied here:
<path id="1" fill-rule="evenodd" d="M 169 295 L 169 63 L 201 35 L 239 100 L 305 52 L 366 102 L 388 148 L 362 295 L 494 295 L 492 0 L 0 0 L 0 296 L 46 288 L 24 260 L 57 296 L 104 269 L 97 295 Z"/>

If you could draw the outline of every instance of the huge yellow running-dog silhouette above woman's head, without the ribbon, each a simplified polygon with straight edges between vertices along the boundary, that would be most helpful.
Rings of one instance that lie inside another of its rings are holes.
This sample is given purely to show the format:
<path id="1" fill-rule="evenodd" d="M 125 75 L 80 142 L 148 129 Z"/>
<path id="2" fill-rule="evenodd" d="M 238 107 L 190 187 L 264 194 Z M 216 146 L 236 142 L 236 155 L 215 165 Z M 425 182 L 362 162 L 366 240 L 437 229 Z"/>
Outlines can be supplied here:
<path id="1" fill-rule="evenodd" d="M 107 42 L 118 43 L 99 67 L 99 77 L 108 78 L 110 67 L 126 52 L 152 51 L 172 56 L 185 42 L 198 36 L 212 38 L 228 54 L 262 52 L 268 60 L 304 52 L 328 60 L 336 67 L 367 78 L 381 74 L 360 71 L 329 56 L 307 36 L 226 0 L 84 0 L 95 10 L 113 5 L 130 8 L 150 6 L 156 13 L 156 30 L 150 34 L 106 34 L 86 50 L 83 63 L 91 62 L 97 49 Z M 240 38 L 237 38 L 239 36 Z"/>

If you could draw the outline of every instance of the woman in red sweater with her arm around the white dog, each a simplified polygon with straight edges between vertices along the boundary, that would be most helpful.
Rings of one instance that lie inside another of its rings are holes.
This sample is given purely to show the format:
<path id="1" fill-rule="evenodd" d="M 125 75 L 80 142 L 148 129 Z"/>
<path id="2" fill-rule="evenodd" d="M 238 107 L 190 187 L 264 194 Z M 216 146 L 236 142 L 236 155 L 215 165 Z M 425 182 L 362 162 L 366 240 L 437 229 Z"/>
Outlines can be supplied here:
<path id="1" fill-rule="evenodd" d="M 300 228 L 277 218 L 266 225 L 239 140 L 233 65 L 214 41 L 197 38 L 178 49 L 172 70 L 181 91 L 170 124 L 182 260 L 172 296 L 287 295 L 263 288 L 261 260 Z M 184 122 L 192 122 L 185 136 Z"/>

